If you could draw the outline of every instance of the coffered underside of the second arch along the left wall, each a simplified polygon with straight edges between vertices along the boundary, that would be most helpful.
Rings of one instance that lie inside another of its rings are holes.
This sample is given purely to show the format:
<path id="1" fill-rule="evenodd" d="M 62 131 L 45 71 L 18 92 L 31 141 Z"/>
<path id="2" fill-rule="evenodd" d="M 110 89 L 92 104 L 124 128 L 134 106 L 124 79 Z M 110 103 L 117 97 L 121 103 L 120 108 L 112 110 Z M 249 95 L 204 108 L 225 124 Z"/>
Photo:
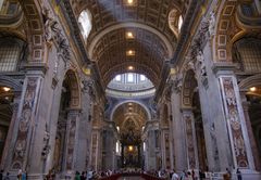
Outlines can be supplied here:
<path id="1" fill-rule="evenodd" d="M 65 73 L 64 81 L 67 82 L 71 90 L 70 108 L 80 108 L 80 86 L 76 72 L 69 69 Z"/>

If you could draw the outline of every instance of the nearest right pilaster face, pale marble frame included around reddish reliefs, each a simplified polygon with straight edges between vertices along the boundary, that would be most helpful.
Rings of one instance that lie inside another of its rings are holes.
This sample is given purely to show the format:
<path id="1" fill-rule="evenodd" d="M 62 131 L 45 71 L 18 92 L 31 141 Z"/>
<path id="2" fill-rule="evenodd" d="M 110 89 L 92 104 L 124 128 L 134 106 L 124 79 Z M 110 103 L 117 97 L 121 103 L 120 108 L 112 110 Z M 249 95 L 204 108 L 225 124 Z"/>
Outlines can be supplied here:
<path id="1" fill-rule="evenodd" d="M 253 169 L 252 151 L 250 149 L 236 78 L 233 75 L 220 75 L 219 79 L 234 166 L 235 168 Z"/>

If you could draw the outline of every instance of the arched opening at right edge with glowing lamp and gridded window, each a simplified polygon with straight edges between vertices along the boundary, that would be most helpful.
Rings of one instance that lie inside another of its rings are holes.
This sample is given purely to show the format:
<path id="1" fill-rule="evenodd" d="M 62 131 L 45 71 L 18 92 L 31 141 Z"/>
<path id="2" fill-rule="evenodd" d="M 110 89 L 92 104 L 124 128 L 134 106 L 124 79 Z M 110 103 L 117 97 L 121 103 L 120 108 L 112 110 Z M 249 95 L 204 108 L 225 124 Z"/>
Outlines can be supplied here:
<path id="1" fill-rule="evenodd" d="M 260 39 L 245 37 L 236 41 L 232 49 L 233 61 L 239 64 L 240 73 L 247 77 L 240 81 L 239 86 L 241 87 L 247 100 L 248 111 L 245 111 L 245 114 L 247 115 L 246 121 L 249 123 L 248 133 L 253 140 L 250 141 L 250 143 L 257 169 L 261 168 L 261 79 L 259 77 L 261 70 L 260 46 Z"/>

